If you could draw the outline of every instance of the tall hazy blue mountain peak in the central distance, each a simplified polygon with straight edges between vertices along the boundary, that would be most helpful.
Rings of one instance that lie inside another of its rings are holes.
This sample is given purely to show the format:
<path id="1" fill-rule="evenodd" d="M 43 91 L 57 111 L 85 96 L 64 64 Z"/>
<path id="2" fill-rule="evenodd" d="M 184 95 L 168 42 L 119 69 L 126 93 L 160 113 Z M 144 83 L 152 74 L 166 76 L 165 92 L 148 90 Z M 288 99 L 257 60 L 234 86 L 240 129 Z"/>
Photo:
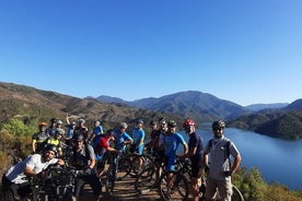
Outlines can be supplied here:
<path id="1" fill-rule="evenodd" d="M 135 107 L 165 111 L 181 117 L 190 117 L 200 122 L 234 118 L 248 111 L 235 103 L 197 91 L 179 92 L 159 98 L 149 97 L 133 102 L 125 102 L 114 97 L 104 98 L 103 96 L 98 96 L 97 99 L 101 102 L 113 99 Z"/>

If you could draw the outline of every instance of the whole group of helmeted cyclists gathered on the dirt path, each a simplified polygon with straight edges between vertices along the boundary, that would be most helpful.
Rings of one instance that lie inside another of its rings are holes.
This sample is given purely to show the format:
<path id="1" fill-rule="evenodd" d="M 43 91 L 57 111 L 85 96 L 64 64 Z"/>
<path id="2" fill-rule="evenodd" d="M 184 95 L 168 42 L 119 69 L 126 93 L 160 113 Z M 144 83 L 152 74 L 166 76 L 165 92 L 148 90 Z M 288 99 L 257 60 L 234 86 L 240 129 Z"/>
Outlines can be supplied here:
<path id="1" fill-rule="evenodd" d="M 196 123 L 189 118 L 183 123 L 188 142 L 176 131 L 177 123 L 174 120 L 160 118 L 150 122 L 151 133 L 148 143 L 142 119 L 136 121 L 131 133 L 127 132 L 127 122 L 120 122 L 118 128 L 104 132 L 101 122 L 94 121 L 93 130 L 90 132 L 82 118 L 71 121 L 70 117 L 67 117 L 66 121 L 67 131 L 62 128 L 63 122 L 55 118 L 50 119 L 49 127 L 46 122 L 38 125 L 38 132 L 32 138 L 33 153 L 10 167 L 2 176 L 5 201 L 22 200 L 31 191 L 26 178 L 38 178 L 49 165 L 65 163 L 74 166 L 78 174 L 72 200 L 79 200 L 84 184 L 91 186 L 95 200 L 102 200 L 102 176 L 107 154 L 126 152 L 129 147 L 130 152 L 141 155 L 148 150 L 158 156 L 160 163 L 156 164 L 164 164 L 165 170 L 174 170 L 179 145 L 183 146 L 179 158 L 189 158 L 191 162 L 193 200 L 200 198 L 199 187 L 204 170 L 208 176 L 206 200 L 212 200 L 217 188 L 222 200 L 231 200 L 231 176 L 239 168 L 241 156 L 234 143 L 224 137 L 225 123 L 222 120 L 212 123 L 213 139 L 206 146 L 201 135 L 196 132 Z M 67 149 L 72 153 L 68 162 L 61 159 Z M 232 165 L 228 154 L 234 157 Z M 142 166 L 142 163 L 141 161 L 139 165 Z"/>

